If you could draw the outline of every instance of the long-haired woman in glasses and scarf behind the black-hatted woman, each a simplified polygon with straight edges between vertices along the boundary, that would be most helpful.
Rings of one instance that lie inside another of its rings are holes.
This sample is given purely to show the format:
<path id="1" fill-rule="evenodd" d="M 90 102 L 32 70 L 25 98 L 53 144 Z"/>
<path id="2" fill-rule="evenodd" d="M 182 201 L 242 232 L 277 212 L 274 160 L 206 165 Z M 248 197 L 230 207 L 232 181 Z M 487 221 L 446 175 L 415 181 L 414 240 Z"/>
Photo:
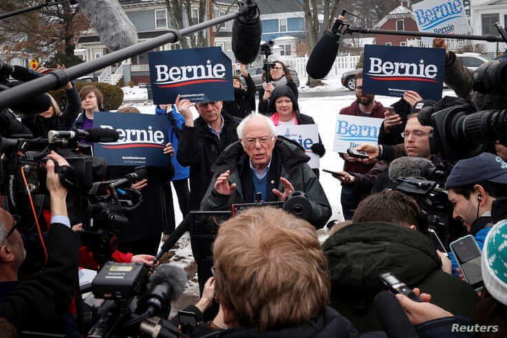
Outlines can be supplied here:
<path id="1" fill-rule="evenodd" d="M 299 96 L 297 86 L 294 83 L 292 74 L 287 66 L 281 61 L 274 61 L 274 66 L 270 68 L 270 81 L 266 83 L 266 73 L 262 75 L 262 89 L 259 89 L 259 114 L 268 114 L 268 103 L 275 87 L 280 85 L 288 86 L 296 100 Z"/>

